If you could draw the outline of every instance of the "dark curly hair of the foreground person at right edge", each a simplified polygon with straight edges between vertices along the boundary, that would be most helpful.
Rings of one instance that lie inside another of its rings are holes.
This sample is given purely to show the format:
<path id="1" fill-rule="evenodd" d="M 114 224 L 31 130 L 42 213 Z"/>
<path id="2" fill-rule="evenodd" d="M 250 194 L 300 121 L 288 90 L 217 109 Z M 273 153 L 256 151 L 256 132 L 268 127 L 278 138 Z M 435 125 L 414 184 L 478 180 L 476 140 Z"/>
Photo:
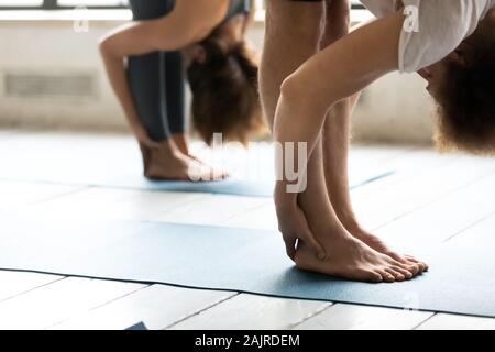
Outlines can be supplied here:
<path id="1" fill-rule="evenodd" d="M 462 63 L 450 61 L 437 97 L 441 151 L 495 155 L 495 25 L 485 24 Z"/>

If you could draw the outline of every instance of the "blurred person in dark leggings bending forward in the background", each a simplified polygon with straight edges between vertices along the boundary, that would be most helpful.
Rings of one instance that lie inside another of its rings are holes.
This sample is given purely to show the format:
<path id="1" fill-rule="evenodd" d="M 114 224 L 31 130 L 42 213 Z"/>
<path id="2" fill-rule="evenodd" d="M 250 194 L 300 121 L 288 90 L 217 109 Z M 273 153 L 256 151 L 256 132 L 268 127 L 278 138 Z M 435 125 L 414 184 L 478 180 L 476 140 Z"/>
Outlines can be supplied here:
<path id="1" fill-rule="evenodd" d="M 110 84 L 139 141 L 152 179 L 226 177 L 189 153 L 185 80 L 193 91 L 193 124 L 245 143 L 264 121 L 257 62 L 245 42 L 250 0 L 131 0 L 134 20 L 100 41 Z"/>

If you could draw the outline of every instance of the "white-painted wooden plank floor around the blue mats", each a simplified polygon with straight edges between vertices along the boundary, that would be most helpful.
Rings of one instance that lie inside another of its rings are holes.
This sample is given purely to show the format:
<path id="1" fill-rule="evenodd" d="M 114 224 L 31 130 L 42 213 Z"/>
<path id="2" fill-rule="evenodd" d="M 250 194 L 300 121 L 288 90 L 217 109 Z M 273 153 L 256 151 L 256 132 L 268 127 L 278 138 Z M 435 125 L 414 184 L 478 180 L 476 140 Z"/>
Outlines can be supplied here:
<path id="1" fill-rule="evenodd" d="M 24 132 L 1 131 L 0 143 L 8 148 L 24 141 L 35 152 L 36 141 L 47 136 L 72 139 L 61 133 L 31 132 L 26 138 Z M 356 189 L 353 198 L 363 223 L 388 241 L 414 246 L 415 232 L 432 224 L 432 242 L 452 240 L 477 227 L 495 229 L 493 160 L 438 155 L 414 146 L 353 148 L 352 167 L 372 165 L 397 172 Z M 6 210 L 276 228 L 270 199 L 14 179 L 0 180 L 0 211 Z M 148 329 L 495 329 L 495 319 L 486 318 L 0 272 L 0 329 L 127 329 L 139 322 Z"/>

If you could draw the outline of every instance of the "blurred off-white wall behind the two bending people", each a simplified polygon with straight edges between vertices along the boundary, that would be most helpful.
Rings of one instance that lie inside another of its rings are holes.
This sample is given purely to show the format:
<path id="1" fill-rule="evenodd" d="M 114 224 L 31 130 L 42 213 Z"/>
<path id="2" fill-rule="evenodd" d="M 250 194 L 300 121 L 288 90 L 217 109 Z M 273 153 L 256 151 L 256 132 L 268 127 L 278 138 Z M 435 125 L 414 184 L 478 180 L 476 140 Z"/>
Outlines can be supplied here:
<path id="1" fill-rule="evenodd" d="M 125 130 L 97 53 L 97 40 L 118 21 L 94 21 L 88 33 L 75 33 L 72 21 L 0 21 L 0 127 L 22 125 Z M 263 25 L 250 40 L 261 48 Z M 96 92 L 88 98 L 6 97 L 8 73 L 89 74 Z M 356 140 L 429 142 L 430 101 L 414 76 L 389 75 L 369 88 L 353 118 Z"/>

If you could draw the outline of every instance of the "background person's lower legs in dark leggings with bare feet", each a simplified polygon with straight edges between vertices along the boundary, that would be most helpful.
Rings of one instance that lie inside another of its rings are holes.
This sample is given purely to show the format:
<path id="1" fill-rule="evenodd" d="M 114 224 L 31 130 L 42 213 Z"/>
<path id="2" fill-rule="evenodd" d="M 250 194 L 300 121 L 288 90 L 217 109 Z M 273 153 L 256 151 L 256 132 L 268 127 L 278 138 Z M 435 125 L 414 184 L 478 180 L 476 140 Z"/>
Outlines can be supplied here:
<path id="1" fill-rule="evenodd" d="M 141 122 L 161 145 L 156 150 L 140 145 L 144 175 L 153 179 L 224 178 L 224 172 L 208 167 L 189 155 L 184 132 L 182 75 L 178 52 L 152 53 L 129 59 L 129 80 Z"/>

